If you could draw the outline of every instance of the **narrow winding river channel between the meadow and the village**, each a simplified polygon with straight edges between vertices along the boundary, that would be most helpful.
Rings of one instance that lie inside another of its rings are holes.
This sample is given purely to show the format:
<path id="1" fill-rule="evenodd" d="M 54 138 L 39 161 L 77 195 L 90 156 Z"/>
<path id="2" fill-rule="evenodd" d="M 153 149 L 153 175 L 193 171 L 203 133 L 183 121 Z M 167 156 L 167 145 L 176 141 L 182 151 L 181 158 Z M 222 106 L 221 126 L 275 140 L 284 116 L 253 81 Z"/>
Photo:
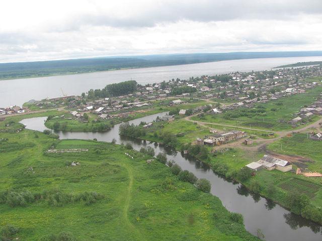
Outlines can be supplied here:
<path id="1" fill-rule="evenodd" d="M 163 116 L 167 112 L 149 115 L 130 121 L 130 124 L 138 125 L 140 122 L 152 122 L 156 116 Z M 47 129 L 44 126 L 46 117 L 23 119 L 22 124 L 27 129 L 40 131 Z M 242 185 L 230 182 L 215 174 L 207 164 L 194 158 L 188 158 L 180 152 L 174 151 L 157 143 L 133 140 L 120 137 L 119 126 L 115 125 L 108 132 L 56 132 L 60 139 L 85 139 L 111 142 L 113 139 L 118 144 L 130 143 L 135 150 L 142 146 L 154 148 L 155 154 L 164 152 L 168 160 L 174 160 L 183 170 L 189 170 L 197 178 L 205 178 L 211 183 L 211 193 L 220 198 L 222 204 L 233 212 L 243 214 L 246 229 L 254 235 L 261 229 L 267 241 L 320 241 L 322 240 L 322 227 L 308 221 L 301 216 L 292 214 L 278 204 L 270 200 L 251 194 Z M 265 170 L 264 170 L 265 171 Z"/>

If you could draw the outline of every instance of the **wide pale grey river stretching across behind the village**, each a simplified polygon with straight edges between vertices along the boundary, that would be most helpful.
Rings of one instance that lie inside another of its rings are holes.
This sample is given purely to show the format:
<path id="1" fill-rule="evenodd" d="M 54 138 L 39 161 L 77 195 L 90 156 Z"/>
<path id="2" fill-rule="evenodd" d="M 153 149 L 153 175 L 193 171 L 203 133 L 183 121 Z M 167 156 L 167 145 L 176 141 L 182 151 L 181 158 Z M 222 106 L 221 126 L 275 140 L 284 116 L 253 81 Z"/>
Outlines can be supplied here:
<path id="1" fill-rule="evenodd" d="M 103 88 L 107 84 L 136 80 L 140 84 L 162 82 L 169 79 L 187 79 L 191 76 L 215 75 L 235 71 L 260 71 L 279 65 L 305 61 L 322 61 L 322 56 L 240 59 L 220 62 L 124 69 L 87 74 L 61 75 L 0 81 L 0 107 L 22 105 L 31 99 L 58 97 L 64 94 L 80 95 L 90 89 Z"/>

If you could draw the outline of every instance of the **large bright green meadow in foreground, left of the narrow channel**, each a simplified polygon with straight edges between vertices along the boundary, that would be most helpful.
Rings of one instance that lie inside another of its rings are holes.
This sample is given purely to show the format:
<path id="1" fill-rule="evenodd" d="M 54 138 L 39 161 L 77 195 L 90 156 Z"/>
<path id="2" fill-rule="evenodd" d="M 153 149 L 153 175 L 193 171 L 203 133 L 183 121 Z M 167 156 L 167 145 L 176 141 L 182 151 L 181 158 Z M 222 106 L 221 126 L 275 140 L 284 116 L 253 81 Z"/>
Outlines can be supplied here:
<path id="1" fill-rule="evenodd" d="M 179 181 L 159 162 L 147 164 L 149 157 L 141 153 L 109 143 L 56 141 L 29 130 L 0 137 L 22 145 L 0 152 L 0 193 L 9 189 L 102 196 L 90 203 L 40 198 L 12 207 L 2 202 L 0 226 L 19 228 L 12 238 L 40 240 L 65 231 L 76 240 L 257 240 L 243 224 L 230 219 L 218 198 Z M 32 145 L 23 146 L 27 143 Z M 47 154 L 53 144 L 87 146 L 89 151 Z M 73 161 L 80 165 L 71 167 Z"/>

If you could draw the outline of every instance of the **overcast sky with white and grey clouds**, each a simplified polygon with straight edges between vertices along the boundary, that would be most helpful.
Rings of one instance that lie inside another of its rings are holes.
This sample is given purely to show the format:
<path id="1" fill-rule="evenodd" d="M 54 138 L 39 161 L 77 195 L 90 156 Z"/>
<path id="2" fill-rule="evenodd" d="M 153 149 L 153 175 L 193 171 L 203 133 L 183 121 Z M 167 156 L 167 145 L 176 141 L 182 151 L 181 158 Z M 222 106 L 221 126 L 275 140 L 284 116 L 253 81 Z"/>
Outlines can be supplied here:
<path id="1" fill-rule="evenodd" d="M 0 62 L 322 50 L 322 0 L 10 0 Z"/>

